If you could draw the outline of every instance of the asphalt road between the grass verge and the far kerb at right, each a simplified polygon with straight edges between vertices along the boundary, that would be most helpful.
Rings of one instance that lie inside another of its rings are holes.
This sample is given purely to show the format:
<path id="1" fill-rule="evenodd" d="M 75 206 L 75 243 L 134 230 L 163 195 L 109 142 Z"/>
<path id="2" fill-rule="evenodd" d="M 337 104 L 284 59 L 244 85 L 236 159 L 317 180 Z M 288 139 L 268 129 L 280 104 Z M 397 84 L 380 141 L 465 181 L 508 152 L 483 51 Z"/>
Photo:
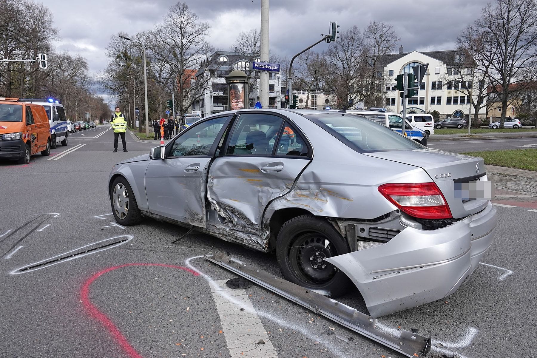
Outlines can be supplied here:
<path id="1" fill-rule="evenodd" d="M 431 137 L 433 136 L 434 134 Z M 537 148 L 537 138 L 477 138 L 475 140 L 429 141 L 427 147 L 455 153 L 482 150 L 528 149 Z"/>

